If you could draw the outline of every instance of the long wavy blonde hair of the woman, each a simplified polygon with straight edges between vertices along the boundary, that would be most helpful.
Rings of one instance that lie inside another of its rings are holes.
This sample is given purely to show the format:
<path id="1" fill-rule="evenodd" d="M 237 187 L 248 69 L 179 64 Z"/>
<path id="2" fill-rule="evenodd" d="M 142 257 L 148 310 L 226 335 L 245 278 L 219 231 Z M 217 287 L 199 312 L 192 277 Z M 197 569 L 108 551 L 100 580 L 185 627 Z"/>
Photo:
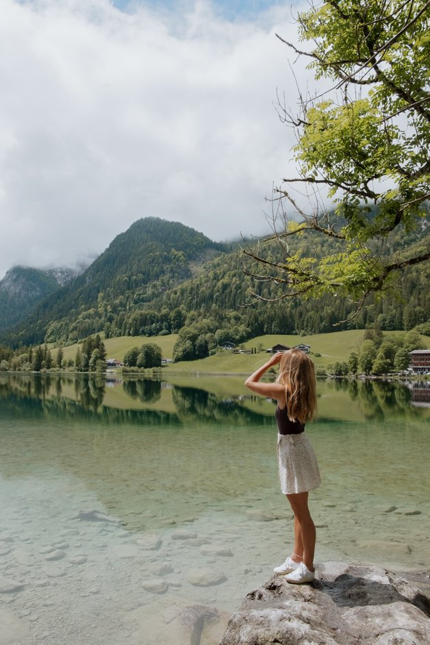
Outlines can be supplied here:
<path id="1" fill-rule="evenodd" d="M 316 414 L 314 362 L 301 349 L 290 349 L 281 357 L 276 380 L 285 387 L 290 421 L 312 421 Z"/>

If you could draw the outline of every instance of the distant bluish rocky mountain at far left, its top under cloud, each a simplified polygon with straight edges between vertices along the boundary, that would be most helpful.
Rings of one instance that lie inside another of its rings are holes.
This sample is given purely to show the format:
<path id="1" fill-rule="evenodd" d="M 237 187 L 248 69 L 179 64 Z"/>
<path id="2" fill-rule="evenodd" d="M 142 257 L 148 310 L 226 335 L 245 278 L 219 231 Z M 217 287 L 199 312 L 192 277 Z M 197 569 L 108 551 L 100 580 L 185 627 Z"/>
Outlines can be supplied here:
<path id="1" fill-rule="evenodd" d="M 0 329 L 24 320 L 31 309 L 66 285 L 77 272 L 70 268 L 14 266 L 0 281 Z"/>

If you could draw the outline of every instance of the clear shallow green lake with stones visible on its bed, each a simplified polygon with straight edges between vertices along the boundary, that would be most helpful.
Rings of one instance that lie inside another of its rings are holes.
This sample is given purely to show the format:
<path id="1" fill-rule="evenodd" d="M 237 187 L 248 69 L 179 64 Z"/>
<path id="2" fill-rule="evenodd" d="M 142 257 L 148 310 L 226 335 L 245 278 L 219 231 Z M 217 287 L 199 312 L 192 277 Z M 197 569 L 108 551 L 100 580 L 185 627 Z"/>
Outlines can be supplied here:
<path id="1" fill-rule="evenodd" d="M 0 375 L 0 645 L 216 644 L 292 544 L 274 412 L 242 377 Z M 318 381 L 317 567 L 428 566 L 429 432 L 429 383 Z"/>

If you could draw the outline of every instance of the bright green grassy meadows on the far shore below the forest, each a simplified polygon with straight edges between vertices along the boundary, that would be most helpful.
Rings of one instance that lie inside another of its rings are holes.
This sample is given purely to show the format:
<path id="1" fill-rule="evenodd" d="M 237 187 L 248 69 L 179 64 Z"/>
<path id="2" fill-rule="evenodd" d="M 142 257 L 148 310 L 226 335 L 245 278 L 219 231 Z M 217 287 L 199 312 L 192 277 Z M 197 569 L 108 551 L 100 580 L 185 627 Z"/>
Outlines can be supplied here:
<path id="1" fill-rule="evenodd" d="M 384 336 L 387 338 L 400 336 L 403 331 L 385 331 Z M 218 353 L 214 356 L 199 359 L 196 361 L 184 361 L 168 364 L 163 367 L 164 373 L 173 372 L 200 372 L 201 374 L 249 374 L 257 369 L 266 359 L 265 350 L 277 343 L 293 347 L 299 343 L 305 343 L 311 346 L 311 357 L 316 368 L 327 368 L 331 363 L 337 361 L 347 361 L 351 351 L 357 350 L 362 342 L 364 329 L 350 329 L 348 331 L 334 331 L 333 333 L 318 333 L 312 336 L 287 336 L 266 334 L 266 336 L 257 336 L 244 343 L 245 349 L 257 348 L 261 343 L 263 351 L 257 354 L 233 354 L 230 351 Z M 105 340 L 108 358 L 122 360 L 125 353 L 135 345 L 142 345 L 145 342 L 155 342 L 162 348 L 163 356 L 170 358 L 173 355 L 173 346 L 176 342 L 177 334 L 172 333 L 168 336 L 121 336 L 118 338 L 108 338 Z M 422 346 L 429 348 L 429 338 L 421 336 Z M 75 358 L 78 344 L 70 345 L 64 348 L 65 358 Z M 55 350 L 54 350 L 55 352 Z M 315 356 L 319 353 L 320 356 Z"/>

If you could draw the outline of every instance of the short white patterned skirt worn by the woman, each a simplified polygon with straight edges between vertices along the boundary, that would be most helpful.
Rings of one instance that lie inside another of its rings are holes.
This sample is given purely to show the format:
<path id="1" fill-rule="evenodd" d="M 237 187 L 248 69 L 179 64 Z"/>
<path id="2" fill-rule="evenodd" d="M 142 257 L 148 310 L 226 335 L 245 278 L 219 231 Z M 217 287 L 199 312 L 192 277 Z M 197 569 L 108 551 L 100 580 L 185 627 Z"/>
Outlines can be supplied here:
<path id="1" fill-rule="evenodd" d="M 303 493 L 321 484 L 314 448 L 305 432 L 298 435 L 278 433 L 279 482 L 284 495 Z"/>

